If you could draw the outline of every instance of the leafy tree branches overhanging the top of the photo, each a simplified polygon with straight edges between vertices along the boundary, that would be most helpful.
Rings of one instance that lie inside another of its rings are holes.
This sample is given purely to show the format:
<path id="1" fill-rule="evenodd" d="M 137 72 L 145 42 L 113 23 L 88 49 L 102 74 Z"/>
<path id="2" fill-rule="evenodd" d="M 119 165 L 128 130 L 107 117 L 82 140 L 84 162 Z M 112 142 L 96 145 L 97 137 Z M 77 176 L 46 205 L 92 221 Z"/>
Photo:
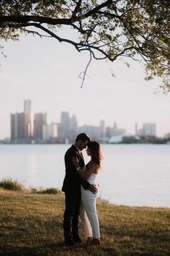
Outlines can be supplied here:
<path id="1" fill-rule="evenodd" d="M 141 61 L 146 80 L 161 77 L 161 88 L 169 92 L 169 7 L 169 0 L 1 0 L 0 38 L 32 33 L 89 51 L 89 62 Z M 76 30 L 75 40 L 58 35 L 64 26 Z"/>

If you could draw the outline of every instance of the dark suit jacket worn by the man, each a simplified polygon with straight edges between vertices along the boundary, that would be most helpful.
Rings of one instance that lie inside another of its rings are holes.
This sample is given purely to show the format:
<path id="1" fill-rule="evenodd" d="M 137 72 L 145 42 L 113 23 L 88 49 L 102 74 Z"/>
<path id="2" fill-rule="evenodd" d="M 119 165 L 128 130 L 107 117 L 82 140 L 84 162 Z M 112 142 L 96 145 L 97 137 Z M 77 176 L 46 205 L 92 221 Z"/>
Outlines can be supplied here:
<path id="1" fill-rule="evenodd" d="M 81 168 L 84 167 L 83 156 L 81 155 L 81 153 L 79 153 L 79 150 L 74 145 L 72 145 L 71 148 L 68 148 L 64 156 L 66 175 L 63 180 L 63 187 L 61 189 L 63 192 L 78 193 L 80 192 L 80 185 L 82 185 L 84 189 L 88 189 L 90 186 L 89 182 L 84 181 L 79 176 L 72 162 L 73 156 L 76 156 L 76 158 L 79 159 L 79 166 Z"/>

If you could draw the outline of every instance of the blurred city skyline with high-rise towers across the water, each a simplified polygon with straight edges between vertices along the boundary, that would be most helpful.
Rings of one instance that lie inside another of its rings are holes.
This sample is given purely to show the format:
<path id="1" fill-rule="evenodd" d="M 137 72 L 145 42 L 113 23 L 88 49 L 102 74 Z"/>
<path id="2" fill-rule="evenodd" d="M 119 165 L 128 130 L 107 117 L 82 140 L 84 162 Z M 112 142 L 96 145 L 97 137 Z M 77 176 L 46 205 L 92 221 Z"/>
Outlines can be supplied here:
<path id="1" fill-rule="evenodd" d="M 48 124 L 48 113 L 35 113 L 32 111 L 32 101 L 24 100 L 22 112 L 11 113 L 11 136 L 12 143 L 44 143 L 44 142 L 73 142 L 76 136 L 86 132 L 92 140 L 101 142 L 122 141 L 123 137 L 132 140 L 143 140 L 144 137 L 156 137 L 156 124 L 143 124 L 138 128 L 135 123 L 135 135 L 129 135 L 126 129 L 117 127 L 116 122 L 112 127 L 106 127 L 105 121 L 100 120 L 98 126 L 86 125 L 79 127 L 76 116 L 70 116 L 68 111 L 61 112 L 61 119 Z"/>

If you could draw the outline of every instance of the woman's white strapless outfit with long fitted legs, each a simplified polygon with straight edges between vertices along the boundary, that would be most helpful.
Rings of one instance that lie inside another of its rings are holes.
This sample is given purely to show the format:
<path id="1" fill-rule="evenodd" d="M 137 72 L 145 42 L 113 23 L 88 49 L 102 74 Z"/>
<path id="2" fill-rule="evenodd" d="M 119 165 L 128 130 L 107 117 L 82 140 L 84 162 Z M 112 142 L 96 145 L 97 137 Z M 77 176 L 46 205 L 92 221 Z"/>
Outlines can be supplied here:
<path id="1" fill-rule="evenodd" d="M 85 171 L 84 167 L 84 170 Z M 97 184 L 97 174 L 91 174 L 87 180 L 90 184 Z M 98 184 L 97 184 L 98 186 Z M 99 189 L 98 189 L 99 190 Z M 99 193 L 99 191 L 98 191 Z M 96 200 L 97 194 L 81 186 L 80 217 L 86 237 L 100 238 L 99 221 L 97 218 Z"/>

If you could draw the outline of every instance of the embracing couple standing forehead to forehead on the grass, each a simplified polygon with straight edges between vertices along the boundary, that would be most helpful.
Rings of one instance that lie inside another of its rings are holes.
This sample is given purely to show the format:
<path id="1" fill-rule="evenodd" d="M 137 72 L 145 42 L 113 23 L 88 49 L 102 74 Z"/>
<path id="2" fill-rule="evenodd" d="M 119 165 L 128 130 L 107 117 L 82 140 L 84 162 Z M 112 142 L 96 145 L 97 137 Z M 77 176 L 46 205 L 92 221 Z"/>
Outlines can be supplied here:
<path id="1" fill-rule="evenodd" d="M 91 157 L 84 164 L 81 150 Z M 66 209 L 63 217 L 65 244 L 74 246 L 81 243 L 79 236 L 79 216 L 86 236 L 86 245 L 100 244 L 99 221 L 97 218 L 96 199 L 99 187 L 96 182 L 101 168 L 102 151 L 99 142 L 90 141 L 86 133 L 76 137 L 76 141 L 65 154 L 66 176 L 62 191 L 66 196 Z"/>

